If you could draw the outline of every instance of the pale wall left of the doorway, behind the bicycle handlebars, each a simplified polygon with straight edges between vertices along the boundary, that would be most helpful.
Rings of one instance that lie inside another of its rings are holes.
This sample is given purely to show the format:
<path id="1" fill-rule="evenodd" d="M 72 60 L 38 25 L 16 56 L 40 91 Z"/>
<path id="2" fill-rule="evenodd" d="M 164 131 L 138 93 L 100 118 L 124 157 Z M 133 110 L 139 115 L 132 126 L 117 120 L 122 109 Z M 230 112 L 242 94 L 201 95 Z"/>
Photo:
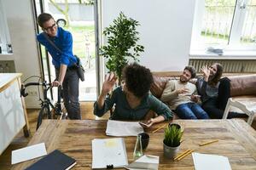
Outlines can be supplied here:
<path id="1" fill-rule="evenodd" d="M 40 76 L 40 65 L 30 0 L 1 0 L 7 17 L 13 54 L 0 55 L 0 60 L 15 60 L 16 72 L 23 73 L 24 80 L 32 75 Z M 35 80 L 35 79 L 33 79 Z M 37 88 L 35 88 L 37 90 Z M 27 107 L 38 107 L 38 97 L 27 96 Z"/>

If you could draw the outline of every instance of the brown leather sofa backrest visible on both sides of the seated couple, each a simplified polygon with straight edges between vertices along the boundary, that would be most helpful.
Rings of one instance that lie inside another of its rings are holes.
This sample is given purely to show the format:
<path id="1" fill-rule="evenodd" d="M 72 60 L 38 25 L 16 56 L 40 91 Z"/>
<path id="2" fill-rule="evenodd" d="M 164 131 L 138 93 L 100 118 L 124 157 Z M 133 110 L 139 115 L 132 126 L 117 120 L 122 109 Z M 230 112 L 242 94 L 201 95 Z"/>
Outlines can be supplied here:
<path id="1" fill-rule="evenodd" d="M 169 80 L 177 80 L 177 76 L 153 75 L 154 82 L 150 88 L 151 94 L 160 98 Z M 229 76 L 231 97 L 240 95 L 256 95 L 256 74 Z"/>

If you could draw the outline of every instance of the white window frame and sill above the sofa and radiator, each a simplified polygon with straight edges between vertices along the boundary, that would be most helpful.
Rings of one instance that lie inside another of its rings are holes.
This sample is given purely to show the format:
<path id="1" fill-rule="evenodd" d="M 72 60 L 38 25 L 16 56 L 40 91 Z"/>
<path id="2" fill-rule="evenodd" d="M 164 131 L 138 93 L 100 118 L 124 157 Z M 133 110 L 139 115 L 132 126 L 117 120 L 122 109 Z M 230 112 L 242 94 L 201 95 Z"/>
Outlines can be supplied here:
<path id="1" fill-rule="evenodd" d="M 191 45 L 190 45 L 190 56 L 195 56 L 196 54 L 205 54 L 206 56 L 212 56 L 212 54 L 207 54 L 206 49 L 208 47 L 221 47 L 224 48 L 224 54 L 232 55 L 239 51 L 239 54 L 245 54 L 249 56 L 256 57 L 256 43 L 242 45 L 240 42 L 242 36 L 242 28 L 244 22 L 246 21 L 247 8 L 243 8 L 243 5 L 247 7 L 249 0 L 239 1 L 236 0 L 236 6 L 233 14 L 232 25 L 230 28 L 230 39 L 227 45 L 221 46 L 211 46 L 207 43 L 200 43 L 198 45 L 198 40 L 201 39 L 201 27 L 203 22 L 203 16 L 205 12 L 205 0 L 198 0 L 195 3 L 195 16 L 194 24 L 192 29 Z M 218 54 L 213 54 L 218 55 Z"/>

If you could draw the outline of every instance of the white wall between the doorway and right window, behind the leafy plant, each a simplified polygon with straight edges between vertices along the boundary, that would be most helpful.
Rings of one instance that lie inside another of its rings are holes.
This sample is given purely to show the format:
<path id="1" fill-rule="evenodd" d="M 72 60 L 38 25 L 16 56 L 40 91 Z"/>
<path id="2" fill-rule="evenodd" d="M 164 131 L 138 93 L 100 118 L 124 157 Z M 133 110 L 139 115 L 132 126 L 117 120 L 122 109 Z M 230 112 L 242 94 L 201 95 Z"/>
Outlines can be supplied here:
<path id="1" fill-rule="evenodd" d="M 123 11 L 141 25 L 140 63 L 151 71 L 182 71 L 189 64 L 194 10 L 195 0 L 102 0 L 102 26 Z"/>

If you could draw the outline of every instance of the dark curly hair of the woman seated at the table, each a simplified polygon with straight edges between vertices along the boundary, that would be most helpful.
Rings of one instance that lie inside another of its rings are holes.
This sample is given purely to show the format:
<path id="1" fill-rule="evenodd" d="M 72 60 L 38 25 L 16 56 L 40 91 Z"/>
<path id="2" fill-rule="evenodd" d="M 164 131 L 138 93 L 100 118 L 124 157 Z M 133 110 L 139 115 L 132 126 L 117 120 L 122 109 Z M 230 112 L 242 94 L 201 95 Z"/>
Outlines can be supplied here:
<path id="1" fill-rule="evenodd" d="M 138 98 L 148 94 L 149 88 L 153 82 L 151 71 L 137 63 L 126 65 L 122 72 L 126 88 Z"/>

